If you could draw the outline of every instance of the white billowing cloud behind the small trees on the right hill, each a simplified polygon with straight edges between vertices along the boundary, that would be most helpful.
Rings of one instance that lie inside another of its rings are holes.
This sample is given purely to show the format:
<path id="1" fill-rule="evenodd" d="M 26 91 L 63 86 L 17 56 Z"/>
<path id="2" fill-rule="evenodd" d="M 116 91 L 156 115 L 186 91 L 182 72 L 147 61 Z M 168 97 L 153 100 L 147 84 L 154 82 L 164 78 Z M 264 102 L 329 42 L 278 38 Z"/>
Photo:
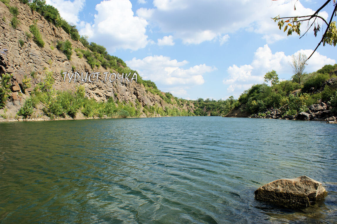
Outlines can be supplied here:
<path id="1" fill-rule="evenodd" d="M 298 50 L 309 57 L 313 50 Z M 250 65 L 233 65 L 227 68 L 228 76 L 223 79 L 223 83 L 228 85 L 227 91 L 232 92 L 235 98 L 238 98 L 240 93 L 250 88 L 253 84 L 263 83 L 264 75 L 271 70 L 275 70 L 281 79 L 289 79 L 292 76 L 292 55 L 285 55 L 284 52 L 272 53 L 269 46 L 266 44 L 259 47 L 255 53 Z M 307 72 L 312 72 L 320 69 L 326 64 L 335 64 L 336 61 L 324 55 L 315 52 L 307 61 Z"/>

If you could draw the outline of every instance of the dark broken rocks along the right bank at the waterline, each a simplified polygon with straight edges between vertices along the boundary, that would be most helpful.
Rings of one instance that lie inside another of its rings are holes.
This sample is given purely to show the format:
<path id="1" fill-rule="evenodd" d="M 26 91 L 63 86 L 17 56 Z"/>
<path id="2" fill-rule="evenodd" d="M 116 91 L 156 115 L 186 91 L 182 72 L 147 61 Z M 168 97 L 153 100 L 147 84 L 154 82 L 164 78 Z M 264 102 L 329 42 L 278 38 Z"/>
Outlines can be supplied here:
<path id="1" fill-rule="evenodd" d="M 304 112 L 300 112 L 297 115 L 283 115 L 282 107 L 279 109 L 267 109 L 263 113 L 252 114 L 249 118 L 268 118 L 268 119 L 284 119 L 284 120 L 314 120 L 314 121 L 326 121 L 327 123 L 337 123 L 337 118 L 332 116 L 328 104 L 321 102 L 319 104 L 313 104 L 307 108 Z"/>

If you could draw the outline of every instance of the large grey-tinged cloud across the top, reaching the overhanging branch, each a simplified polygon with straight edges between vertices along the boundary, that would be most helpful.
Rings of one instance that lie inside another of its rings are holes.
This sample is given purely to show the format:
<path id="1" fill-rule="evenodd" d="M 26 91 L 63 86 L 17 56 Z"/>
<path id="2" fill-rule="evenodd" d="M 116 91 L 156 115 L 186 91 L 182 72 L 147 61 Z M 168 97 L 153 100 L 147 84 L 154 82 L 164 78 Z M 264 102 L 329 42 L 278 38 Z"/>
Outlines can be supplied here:
<path id="1" fill-rule="evenodd" d="M 182 39 L 184 44 L 221 39 L 240 29 L 261 34 L 267 43 L 272 43 L 287 36 L 271 17 L 314 12 L 299 1 L 294 11 L 294 1 L 290 0 L 212 0 L 211 3 L 206 0 L 154 0 L 153 5 L 151 9 L 138 9 L 137 15 L 162 32 L 172 33 L 174 39 Z M 328 13 L 320 15 L 327 18 Z M 305 26 L 303 24 L 302 29 Z M 225 40 L 220 41 L 220 45 Z"/>

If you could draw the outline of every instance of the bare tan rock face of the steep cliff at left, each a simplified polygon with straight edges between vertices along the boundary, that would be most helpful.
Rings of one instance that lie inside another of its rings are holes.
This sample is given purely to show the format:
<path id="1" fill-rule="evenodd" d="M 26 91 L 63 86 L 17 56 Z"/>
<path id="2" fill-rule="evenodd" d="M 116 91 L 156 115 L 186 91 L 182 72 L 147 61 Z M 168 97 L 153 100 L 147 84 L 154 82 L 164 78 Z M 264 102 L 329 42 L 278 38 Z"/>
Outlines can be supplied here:
<path id="1" fill-rule="evenodd" d="M 17 7 L 17 19 L 19 24 L 13 28 L 11 24 L 12 13 L 9 7 Z M 41 33 L 42 40 L 45 42 L 43 47 L 38 46 L 32 36 L 29 26 L 36 24 Z M 72 55 L 70 60 L 66 55 L 56 48 L 58 41 L 70 41 L 72 45 Z M 184 111 L 193 111 L 193 104 L 177 105 L 174 98 L 171 102 L 165 102 L 159 95 L 152 94 L 147 91 L 143 84 L 123 80 L 122 82 L 116 79 L 113 82 L 104 82 L 103 72 L 115 72 L 112 69 L 104 69 L 102 66 L 94 69 L 87 63 L 84 57 L 78 57 L 74 49 L 88 50 L 80 41 L 72 40 L 70 35 L 66 33 L 61 27 L 56 27 L 48 22 L 38 12 L 31 10 L 27 4 L 21 3 L 19 0 L 10 1 L 9 5 L 0 2 L 0 77 L 7 73 L 11 74 L 9 81 L 10 92 L 6 101 L 5 107 L 0 109 L 2 118 L 19 118 L 16 114 L 20 107 L 28 99 L 33 89 L 40 83 L 46 71 L 53 73 L 55 80 L 53 88 L 56 90 L 71 90 L 75 91 L 75 87 L 82 85 L 85 87 L 85 97 L 95 99 L 96 101 L 107 101 L 110 97 L 115 101 L 130 103 L 136 106 L 140 103 L 141 117 L 149 116 L 144 112 L 144 107 L 157 106 L 162 109 L 174 108 Z M 66 77 L 64 82 L 64 75 L 62 72 L 72 71 L 81 72 L 100 72 L 102 78 L 94 82 L 83 82 L 78 80 L 74 83 L 69 83 L 69 78 Z M 108 76 L 109 77 L 109 76 Z M 114 77 L 114 76 L 113 76 Z M 132 77 L 130 75 L 129 79 Z M 25 83 L 29 80 L 29 83 Z M 103 80 L 103 81 L 102 81 Z M 109 80 L 109 78 L 108 78 Z M 24 85 L 30 86 L 24 89 Z M 164 93 L 163 93 L 164 94 Z M 43 114 L 43 103 L 34 108 L 32 118 L 40 117 L 41 119 L 48 119 Z M 160 116 L 156 112 L 151 116 Z M 80 113 L 76 115 L 77 118 L 83 117 Z"/>

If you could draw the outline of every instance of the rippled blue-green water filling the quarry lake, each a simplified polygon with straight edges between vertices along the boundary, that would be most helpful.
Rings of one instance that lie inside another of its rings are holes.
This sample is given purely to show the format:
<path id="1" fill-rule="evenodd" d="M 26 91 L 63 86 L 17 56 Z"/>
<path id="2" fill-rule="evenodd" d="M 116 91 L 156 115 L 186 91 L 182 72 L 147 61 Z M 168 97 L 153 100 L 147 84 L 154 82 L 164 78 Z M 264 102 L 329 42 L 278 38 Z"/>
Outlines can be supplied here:
<path id="1" fill-rule="evenodd" d="M 0 223 L 336 223 L 337 125 L 163 117 L 0 123 Z M 307 175 L 304 210 L 254 200 Z"/>

